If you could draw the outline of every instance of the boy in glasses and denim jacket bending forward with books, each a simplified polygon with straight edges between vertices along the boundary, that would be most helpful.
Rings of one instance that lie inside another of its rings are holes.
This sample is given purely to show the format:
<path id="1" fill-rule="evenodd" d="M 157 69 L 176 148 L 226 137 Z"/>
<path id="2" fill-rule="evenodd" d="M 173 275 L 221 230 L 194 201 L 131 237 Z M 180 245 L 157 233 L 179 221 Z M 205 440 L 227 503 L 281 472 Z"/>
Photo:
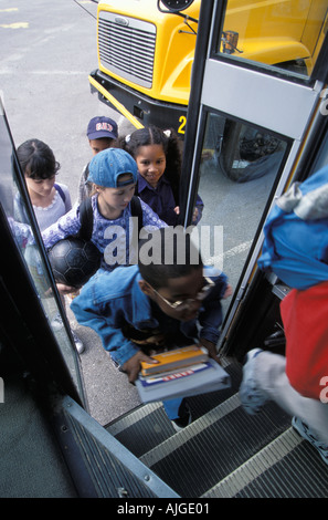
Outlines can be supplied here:
<path id="1" fill-rule="evenodd" d="M 219 362 L 221 299 L 231 294 L 224 273 L 209 278 L 182 227 L 161 228 L 139 242 L 138 266 L 94 277 L 73 301 L 76 320 L 94 329 L 112 360 L 134 383 L 140 362 L 163 349 L 200 343 Z M 176 429 L 190 423 L 184 399 L 163 403 Z"/>

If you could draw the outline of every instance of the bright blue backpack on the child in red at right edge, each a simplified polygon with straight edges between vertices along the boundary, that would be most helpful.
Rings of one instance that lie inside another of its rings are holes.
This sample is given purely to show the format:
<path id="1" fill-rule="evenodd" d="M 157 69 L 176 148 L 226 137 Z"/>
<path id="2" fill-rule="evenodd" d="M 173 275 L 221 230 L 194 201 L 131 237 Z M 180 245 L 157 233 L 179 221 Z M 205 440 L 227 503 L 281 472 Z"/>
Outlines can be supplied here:
<path id="1" fill-rule="evenodd" d="M 328 166 L 277 199 L 264 236 L 261 269 L 298 290 L 328 280 Z"/>

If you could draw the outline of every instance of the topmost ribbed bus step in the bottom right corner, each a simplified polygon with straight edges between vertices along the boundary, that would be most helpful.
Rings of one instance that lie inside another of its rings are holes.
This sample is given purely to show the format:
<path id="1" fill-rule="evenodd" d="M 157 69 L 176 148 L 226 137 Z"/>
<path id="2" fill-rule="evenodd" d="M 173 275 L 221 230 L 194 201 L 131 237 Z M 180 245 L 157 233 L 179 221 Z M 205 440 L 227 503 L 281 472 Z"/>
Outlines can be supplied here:
<path id="1" fill-rule="evenodd" d="M 327 487 L 316 449 L 288 428 L 202 498 L 327 498 Z"/>

